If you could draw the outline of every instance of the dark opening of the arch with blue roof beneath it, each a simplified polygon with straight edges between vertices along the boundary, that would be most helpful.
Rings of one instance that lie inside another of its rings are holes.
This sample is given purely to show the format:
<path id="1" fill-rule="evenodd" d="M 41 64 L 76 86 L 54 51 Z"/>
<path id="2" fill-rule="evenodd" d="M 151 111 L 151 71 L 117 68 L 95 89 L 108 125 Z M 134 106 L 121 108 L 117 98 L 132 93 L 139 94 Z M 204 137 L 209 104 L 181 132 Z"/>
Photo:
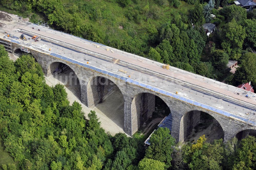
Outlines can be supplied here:
<path id="1" fill-rule="evenodd" d="M 144 134 L 153 132 L 157 125 L 170 112 L 167 104 L 151 93 L 137 94 L 132 100 L 132 134 L 142 131 Z"/>

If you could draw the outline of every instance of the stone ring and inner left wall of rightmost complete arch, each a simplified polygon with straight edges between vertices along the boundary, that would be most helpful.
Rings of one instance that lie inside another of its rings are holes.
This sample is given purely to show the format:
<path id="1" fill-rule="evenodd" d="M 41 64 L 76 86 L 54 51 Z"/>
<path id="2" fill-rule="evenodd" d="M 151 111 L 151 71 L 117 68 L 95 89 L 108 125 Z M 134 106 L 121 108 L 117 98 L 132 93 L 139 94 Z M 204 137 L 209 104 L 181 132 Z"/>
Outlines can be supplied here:
<path id="1" fill-rule="evenodd" d="M 219 121 L 219 119 L 217 118 L 217 115 L 208 110 L 205 110 L 205 109 L 193 108 L 193 109 L 188 109 L 188 110 L 184 111 L 183 114 L 179 118 L 179 120 L 180 120 L 179 142 L 183 142 L 184 140 L 186 140 L 186 138 L 188 137 L 188 134 L 192 131 L 192 129 L 195 128 L 199 124 L 201 112 L 203 112 L 207 115 L 210 115 L 217 121 L 217 123 L 220 125 L 220 127 L 222 129 L 221 136 L 224 139 L 226 132 L 223 127 L 225 127 L 225 126 L 221 121 Z"/>

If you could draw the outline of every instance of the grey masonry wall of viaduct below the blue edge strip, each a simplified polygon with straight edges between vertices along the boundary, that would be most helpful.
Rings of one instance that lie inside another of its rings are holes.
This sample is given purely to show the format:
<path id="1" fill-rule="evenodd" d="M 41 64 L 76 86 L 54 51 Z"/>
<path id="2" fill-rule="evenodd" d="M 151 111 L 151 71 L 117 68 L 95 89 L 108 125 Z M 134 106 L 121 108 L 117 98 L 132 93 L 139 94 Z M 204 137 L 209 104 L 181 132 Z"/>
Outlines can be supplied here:
<path id="1" fill-rule="evenodd" d="M 6 41 L 4 39 L 1 39 L 1 40 Z M 8 42 L 8 43 L 10 43 L 10 42 Z M 22 46 L 22 45 L 12 43 L 13 50 L 20 48 L 20 46 Z M 138 127 L 138 119 L 134 119 L 134 117 L 137 117 L 137 115 L 138 115 L 137 109 L 134 109 L 134 107 L 132 107 L 132 101 L 134 98 L 136 100 L 136 96 L 138 94 L 142 94 L 142 93 L 150 93 L 152 95 L 156 95 L 167 104 L 167 106 L 169 107 L 169 109 L 171 111 L 171 115 L 172 115 L 171 134 L 176 139 L 176 142 L 184 140 L 184 135 L 182 136 L 180 134 L 184 134 L 184 121 L 186 122 L 186 120 L 184 120 L 184 119 L 186 119 L 186 118 L 182 118 L 182 117 L 190 111 L 203 111 L 203 112 L 208 113 L 212 117 L 214 117 L 219 122 L 220 126 L 223 129 L 224 142 L 233 138 L 241 130 L 246 130 L 246 129 L 254 129 L 255 130 L 254 127 L 250 126 L 246 122 L 243 122 L 243 121 L 231 118 L 231 117 L 227 117 L 227 116 L 218 114 L 217 112 L 200 108 L 198 106 L 190 105 L 188 103 L 185 103 L 184 101 L 177 100 L 170 96 L 166 96 L 164 94 L 157 93 L 150 89 L 146 89 L 144 87 L 125 82 L 121 79 L 118 79 L 118 78 L 115 78 L 115 77 L 112 77 L 109 75 L 105 75 L 105 74 L 99 73 L 97 71 L 90 70 L 88 68 L 84 68 L 77 64 L 63 61 L 63 60 L 55 58 L 49 54 L 41 53 L 34 49 L 30 49 L 30 53 L 35 57 L 37 62 L 42 66 L 42 69 L 43 69 L 45 75 L 48 75 L 47 70 L 49 69 L 49 66 L 51 63 L 62 62 L 62 63 L 67 64 L 74 71 L 74 73 L 77 75 L 77 77 L 79 79 L 80 90 L 81 90 L 81 102 L 86 106 L 89 106 L 88 105 L 88 96 L 91 96 L 92 95 L 91 93 L 94 93 L 94 92 L 92 92 L 92 90 L 88 90 L 88 83 L 92 80 L 93 77 L 102 76 L 102 77 L 105 77 L 105 78 L 109 79 L 110 81 L 112 81 L 120 89 L 121 93 L 123 94 L 124 131 L 128 135 L 134 134 Z M 148 110 L 150 110 L 150 109 L 148 109 Z M 196 117 L 198 117 L 198 116 L 196 116 Z M 196 117 L 194 117 L 194 118 L 191 117 L 191 118 L 196 119 Z M 181 121 L 183 121 L 183 123 L 181 123 Z M 197 119 L 195 122 L 197 122 Z M 192 124 L 196 124 L 196 123 L 192 123 Z M 187 131 L 186 127 L 185 127 L 185 131 Z"/>

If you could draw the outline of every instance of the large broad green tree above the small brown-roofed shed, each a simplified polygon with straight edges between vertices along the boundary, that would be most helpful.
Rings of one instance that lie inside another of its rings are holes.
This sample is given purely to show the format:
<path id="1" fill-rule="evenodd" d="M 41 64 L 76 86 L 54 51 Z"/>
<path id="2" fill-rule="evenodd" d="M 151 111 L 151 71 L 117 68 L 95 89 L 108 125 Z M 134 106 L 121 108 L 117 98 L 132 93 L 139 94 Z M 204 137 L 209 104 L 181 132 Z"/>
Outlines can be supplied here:
<path id="1" fill-rule="evenodd" d="M 221 47 L 225 50 L 231 59 L 237 60 L 241 57 L 243 41 L 246 38 L 246 32 L 241 25 L 238 25 L 235 19 L 225 24 L 222 32 Z"/>

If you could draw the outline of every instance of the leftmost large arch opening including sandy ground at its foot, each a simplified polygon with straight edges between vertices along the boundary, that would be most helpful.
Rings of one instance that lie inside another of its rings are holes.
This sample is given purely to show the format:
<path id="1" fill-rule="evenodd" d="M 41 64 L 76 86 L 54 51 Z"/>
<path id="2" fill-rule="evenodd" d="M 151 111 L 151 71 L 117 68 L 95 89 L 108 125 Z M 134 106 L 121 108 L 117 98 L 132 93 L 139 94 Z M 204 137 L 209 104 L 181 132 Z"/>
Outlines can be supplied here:
<path id="1" fill-rule="evenodd" d="M 53 62 L 48 66 L 47 77 L 52 85 L 63 84 L 67 93 L 74 95 L 74 100 L 80 100 L 80 83 L 76 73 L 67 65 L 61 62 Z"/>

